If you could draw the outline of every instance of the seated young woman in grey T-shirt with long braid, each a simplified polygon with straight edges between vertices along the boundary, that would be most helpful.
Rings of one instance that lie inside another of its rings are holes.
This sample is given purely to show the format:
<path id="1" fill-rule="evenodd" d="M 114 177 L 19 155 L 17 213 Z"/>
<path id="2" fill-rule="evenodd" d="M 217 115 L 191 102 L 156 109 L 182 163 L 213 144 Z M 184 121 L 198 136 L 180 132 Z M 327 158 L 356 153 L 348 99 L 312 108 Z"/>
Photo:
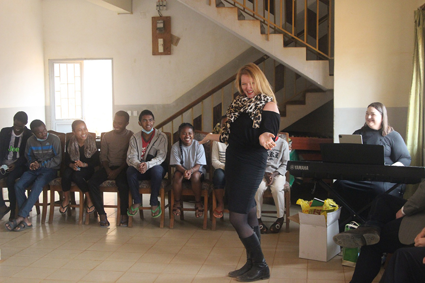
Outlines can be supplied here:
<path id="1" fill-rule="evenodd" d="M 201 202 L 201 182 L 205 178 L 207 165 L 204 146 L 193 140 L 193 126 L 182 123 L 179 126 L 179 142 L 171 148 L 170 165 L 176 167 L 173 177 L 174 206 L 173 214 L 180 216 L 182 209 L 182 182 L 190 182 L 195 195 L 195 216 L 204 215 Z"/>

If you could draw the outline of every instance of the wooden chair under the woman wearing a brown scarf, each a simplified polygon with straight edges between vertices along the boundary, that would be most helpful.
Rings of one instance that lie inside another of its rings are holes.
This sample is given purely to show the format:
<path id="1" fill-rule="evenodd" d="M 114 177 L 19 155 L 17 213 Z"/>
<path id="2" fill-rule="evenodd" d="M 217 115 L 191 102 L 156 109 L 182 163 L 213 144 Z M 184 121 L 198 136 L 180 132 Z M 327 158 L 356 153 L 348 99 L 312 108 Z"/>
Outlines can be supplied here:
<path id="1" fill-rule="evenodd" d="M 95 133 L 89 133 L 93 138 L 96 138 L 96 134 Z M 65 135 L 65 134 L 63 134 Z M 66 133 L 65 139 L 63 141 L 64 145 L 62 146 L 62 164 L 61 164 L 61 175 L 63 173 L 63 171 L 66 169 L 66 164 L 64 164 L 65 161 L 65 144 L 66 141 L 69 141 L 69 139 L 74 136 L 73 133 Z M 62 141 L 61 141 L 62 142 Z M 61 203 L 62 203 L 62 198 L 63 195 L 62 193 L 62 183 L 61 183 L 62 178 L 56 178 L 53 181 L 51 181 L 49 183 L 50 185 L 50 213 L 49 213 L 49 224 L 53 223 L 53 215 L 55 213 L 55 207 L 60 207 Z M 59 193 L 59 201 L 55 202 L 55 192 Z M 72 208 L 76 208 L 78 207 L 79 210 L 79 217 L 78 217 L 78 225 L 81 225 L 83 223 L 83 216 L 84 216 L 84 193 L 78 188 L 78 186 L 74 183 L 71 182 L 71 189 L 70 189 L 71 194 L 71 198 L 73 198 L 73 200 L 71 201 L 71 204 L 68 207 L 68 211 L 67 214 L 68 216 L 71 216 L 71 209 Z M 76 204 L 75 202 L 75 192 L 77 192 L 80 196 L 80 203 Z"/>

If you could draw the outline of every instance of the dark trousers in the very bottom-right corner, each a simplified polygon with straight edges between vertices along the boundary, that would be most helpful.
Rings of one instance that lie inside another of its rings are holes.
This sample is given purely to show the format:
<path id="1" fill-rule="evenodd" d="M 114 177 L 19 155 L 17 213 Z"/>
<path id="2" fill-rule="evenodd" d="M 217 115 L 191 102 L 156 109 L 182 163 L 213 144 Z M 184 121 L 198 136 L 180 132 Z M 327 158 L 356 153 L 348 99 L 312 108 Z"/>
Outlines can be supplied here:
<path id="1" fill-rule="evenodd" d="M 425 247 L 402 248 L 395 251 L 380 283 L 425 282 Z"/>

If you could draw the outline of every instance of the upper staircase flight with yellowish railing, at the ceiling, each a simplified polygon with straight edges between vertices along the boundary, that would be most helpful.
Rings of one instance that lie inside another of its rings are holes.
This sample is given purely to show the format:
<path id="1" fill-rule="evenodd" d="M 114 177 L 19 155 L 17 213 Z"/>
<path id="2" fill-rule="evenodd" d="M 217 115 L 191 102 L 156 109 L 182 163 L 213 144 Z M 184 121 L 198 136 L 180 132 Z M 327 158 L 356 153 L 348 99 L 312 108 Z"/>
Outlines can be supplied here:
<path id="1" fill-rule="evenodd" d="M 281 8 L 280 11 L 276 8 L 279 5 L 275 3 L 275 0 L 266 0 L 265 2 L 259 2 L 258 0 L 243 0 L 243 2 L 226 0 L 227 6 L 218 1 L 218 7 L 216 7 L 215 2 L 209 3 L 208 0 L 179 1 L 272 57 L 286 68 L 304 77 L 316 88 L 324 91 L 334 88 L 334 79 L 329 71 L 329 61 L 323 59 L 307 60 L 307 49 L 322 58 L 331 58 L 329 56 L 331 54 L 330 50 L 328 54 L 325 54 L 321 51 L 323 48 L 319 48 L 319 46 L 324 45 L 323 42 L 326 41 L 328 43 L 330 40 L 330 36 L 323 35 L 321 31 L 323 28 L 320 28 L 321 21 L 323 22 L 327 16 L 320 17 L 319 1 L 316 1 L 316 13 L 308 8 L 307 2 L 309 1 L 307 0 L 305 0 L 304 11 L 301 13 L 296 12 L 297 3 L 295 0 L 280 0 L 280 7 L 284 5 L 286 8 L 286 10 Z M 327 2 L 329 3 L 329 1 Z M 228 6 L 229 3 L 232 7 Z M 263 3 L 266 4 L 266 7 L 262 7 L 263 14 L 261 14 L 261 7 L 258 8 L 258 6 L 264 6 Z M 274 7 L 273 13 L 276 16 L 272 14 L 272 9 L 270 9 L 270 13 L 267 11 L 268 5 Z M 291 8 L 292 14 L 289 13 L 289 8 Z M 331 8 L 329 9 L 332 10 Z M 304 14 L 304 28 L 301 30 L 299 30 L 301 24 L 297 20 L 301 18 L 300 14 Z M 316 23 L 315 27 L 311 24 L 314 22 Z M 292 32 L 287 31 L 287 29 Z M 307 32 L 304 32 L 306 29 Z M 313 35 L 315 38 L 313 38 Z M 304 36 L 304 39 L 300 38 L 302 36 Z M 288 47 L 284 47 L 284 45 Z M 300 45 L 304 47 L 299 47 Z M 329 43 L 326 45 L 330 46 Z"/>

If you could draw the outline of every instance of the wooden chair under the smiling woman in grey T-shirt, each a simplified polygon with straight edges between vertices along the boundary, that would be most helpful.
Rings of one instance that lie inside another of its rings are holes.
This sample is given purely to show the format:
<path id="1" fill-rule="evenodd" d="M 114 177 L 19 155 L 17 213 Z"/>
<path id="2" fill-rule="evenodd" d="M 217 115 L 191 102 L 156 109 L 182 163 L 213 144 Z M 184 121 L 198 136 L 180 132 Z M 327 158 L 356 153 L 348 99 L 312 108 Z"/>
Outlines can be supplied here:
<path id="1" fill-rule="evenodd" d="M 208 133 L 206 132 L 201 132 L 198 130 L 194 131 L 194 139 L 197 141 L 202 141 L 205 136 Z M 207 159 L 207 172 L 209 173 L 209 176 L 205 176 L 205 180 L 202 182 L 202 186 L 201 186 L 201 197 L 204 198 L 204 225 L 203 228 L 204 230 L 207 229 L 207 221 L 208 221 L 208 198 L 210 197 L 210 194 L 212 192 L 211 189 L 211 179 L 212 179 L 212 175 L 211 175 L 211 149 L 212 149 L 212 145 L 211 142 L 204 144 L 204 149 L 205 149 L 205 157 Z M 191 188 L 191 184 L 190 182 L 183 182 L 182 183 L 182 198 L 184 198 L 184 196 L 194 196 L 192 188 Z M 171 203 L 170 203 L 170 210 L 173 208 L 174 205 L 174 192 L 173 190 L 171 190 Z M 212 208 L 210 208 L 210 210 L 212 211 Z M 180 219 L 184 220 L 184 211 L 195 211 L 194 208 L 184 208 L 182 206 L 181 208 L 182 213 L 180 214 Z M 210 211 L 210 214 L 211 214 Z M 171 213 L 170 214 L 170 229 L 174 228 L 174 214 Z"/>

